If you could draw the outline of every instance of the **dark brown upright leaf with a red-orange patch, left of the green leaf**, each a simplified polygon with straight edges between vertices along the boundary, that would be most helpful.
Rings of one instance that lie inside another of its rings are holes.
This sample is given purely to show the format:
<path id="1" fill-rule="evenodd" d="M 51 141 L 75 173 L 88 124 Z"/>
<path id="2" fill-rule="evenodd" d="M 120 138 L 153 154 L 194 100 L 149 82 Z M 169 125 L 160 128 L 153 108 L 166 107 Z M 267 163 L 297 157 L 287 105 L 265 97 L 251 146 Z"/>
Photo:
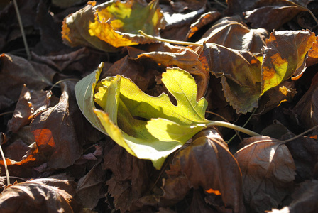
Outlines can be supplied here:
<path id="1" fill-rule="evenodd" d="M 75 100 L 75 83 L 62 83 L 60 102 L 38 113 L 31 123 L 39 152 L 48 152 L 48 168 L 66 168 L 82 154 L 82 116 Z"/>

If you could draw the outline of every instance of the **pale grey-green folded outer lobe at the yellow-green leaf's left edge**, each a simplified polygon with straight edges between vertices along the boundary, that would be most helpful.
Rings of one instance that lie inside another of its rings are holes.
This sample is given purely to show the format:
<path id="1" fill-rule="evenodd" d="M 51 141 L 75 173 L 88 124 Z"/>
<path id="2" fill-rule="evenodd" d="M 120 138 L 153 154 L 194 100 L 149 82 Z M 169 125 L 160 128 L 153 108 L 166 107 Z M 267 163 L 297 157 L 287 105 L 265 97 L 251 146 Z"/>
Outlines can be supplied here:
<path id="1" fill-rule="evenodd" d="M 96 87 L 97 81 L 99 80 L 99 75 L 102 72 L 104 63 L 102 62 L 98 69 L 92 72 L 90 75 L 87 75 L 82 80 L 77 82 L 75 85 L 75 97 L 77 100 L 77 105 L 82 111 L 82 114 L 86 119 L 99 131 L 104 132 L 104 128 L 99 122 L 99 119 L 94 114 L 94 89 Z"/>

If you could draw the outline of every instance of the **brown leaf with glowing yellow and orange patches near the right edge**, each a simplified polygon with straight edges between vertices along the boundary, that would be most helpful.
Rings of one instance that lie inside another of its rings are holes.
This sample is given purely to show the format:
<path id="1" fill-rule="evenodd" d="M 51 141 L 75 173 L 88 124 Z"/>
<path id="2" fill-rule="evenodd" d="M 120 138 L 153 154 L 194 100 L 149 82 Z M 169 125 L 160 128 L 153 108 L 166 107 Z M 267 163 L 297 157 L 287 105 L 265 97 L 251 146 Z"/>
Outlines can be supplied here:
<path id="1" fill-rule="evenodd" d="M 262 94 L 293 75 L 301 75 L 316 41 L 310 31 L 274 31 L 263 48 Z"/>

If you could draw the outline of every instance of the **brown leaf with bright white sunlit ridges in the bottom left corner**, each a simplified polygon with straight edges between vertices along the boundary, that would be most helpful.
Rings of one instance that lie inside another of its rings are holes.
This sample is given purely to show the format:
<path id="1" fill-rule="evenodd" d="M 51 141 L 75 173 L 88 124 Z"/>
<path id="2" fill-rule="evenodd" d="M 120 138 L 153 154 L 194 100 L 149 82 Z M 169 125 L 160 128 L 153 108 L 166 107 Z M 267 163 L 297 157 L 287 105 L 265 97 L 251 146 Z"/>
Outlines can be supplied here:
<path id="1" fill-rule="evenodd" d="M 17 183 L 0 194 L 0 212 L 78 212 L 75 182 L 42 178 Z"/>

